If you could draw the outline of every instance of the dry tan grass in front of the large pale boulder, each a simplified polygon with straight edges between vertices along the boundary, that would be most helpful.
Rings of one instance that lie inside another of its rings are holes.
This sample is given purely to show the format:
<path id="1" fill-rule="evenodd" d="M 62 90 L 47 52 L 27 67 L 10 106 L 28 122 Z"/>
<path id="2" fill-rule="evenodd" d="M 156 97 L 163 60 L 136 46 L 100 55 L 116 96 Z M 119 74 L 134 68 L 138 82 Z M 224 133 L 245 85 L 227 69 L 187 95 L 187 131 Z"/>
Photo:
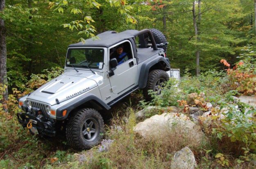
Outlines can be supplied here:
<path id="1" fill-rule="evenodd" d="M 161 126 L 162 135 L 156 134 L 147 140 L 133 129 L 136 125 L 134 110 L 127 108 L 125 116 L 114 117 L 107 130 L 106 138 L 114 140 L 109 151 L 95 151 L 91 160 L 86 160 L 84 167 L 122 168 L 122 169 L 169 169 L 172 156 L 185 146 L 194 152 L 201 147 L 189 133 L 185 134 L 184 128 L 175 126 L 172 129 Z M 117 129 L 118 128 L 118 129 Z M 203 146 L 203 145 L 202 145 Z M 86 153 L 86 152 L 85 152 Z M 197 154 L 197 157 L 202 154 Z"/>

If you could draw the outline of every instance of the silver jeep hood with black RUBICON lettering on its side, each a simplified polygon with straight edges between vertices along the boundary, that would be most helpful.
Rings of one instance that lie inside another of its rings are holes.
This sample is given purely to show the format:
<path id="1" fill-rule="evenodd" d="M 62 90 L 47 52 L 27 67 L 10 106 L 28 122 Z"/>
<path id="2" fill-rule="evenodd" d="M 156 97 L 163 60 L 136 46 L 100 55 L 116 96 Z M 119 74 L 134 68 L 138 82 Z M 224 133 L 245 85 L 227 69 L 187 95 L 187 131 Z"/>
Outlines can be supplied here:
<path id="1" fill-rule="evenodd" d="M 86 72 L 65 72 L 32 92 L 27 99 L 55 105 L 57 101 L 61 103 L 95 88 L 101 81 L 103 81 L 103 77 L 100 75 Z"/>

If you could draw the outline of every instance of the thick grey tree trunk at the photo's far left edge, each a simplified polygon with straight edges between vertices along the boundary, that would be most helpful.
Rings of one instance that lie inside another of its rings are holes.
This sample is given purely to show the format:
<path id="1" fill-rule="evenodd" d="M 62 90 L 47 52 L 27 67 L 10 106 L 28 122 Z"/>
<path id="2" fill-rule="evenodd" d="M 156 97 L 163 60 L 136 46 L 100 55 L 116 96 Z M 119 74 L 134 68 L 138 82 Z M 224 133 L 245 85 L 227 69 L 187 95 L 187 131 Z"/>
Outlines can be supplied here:
<path id="1" fill-rule="evenodd" d="M 5 0 L 0 0 L 0 11 L 5 9 Z M 7 86 L 7 70 L 6 70 L 6 29 L 5 21 L 0 18 L 0 83 Z M 4 105 L 7 112 L 6 101 L 8 100 L 8 88 L 3 91 L 3 99 L 0 101 Z"/>

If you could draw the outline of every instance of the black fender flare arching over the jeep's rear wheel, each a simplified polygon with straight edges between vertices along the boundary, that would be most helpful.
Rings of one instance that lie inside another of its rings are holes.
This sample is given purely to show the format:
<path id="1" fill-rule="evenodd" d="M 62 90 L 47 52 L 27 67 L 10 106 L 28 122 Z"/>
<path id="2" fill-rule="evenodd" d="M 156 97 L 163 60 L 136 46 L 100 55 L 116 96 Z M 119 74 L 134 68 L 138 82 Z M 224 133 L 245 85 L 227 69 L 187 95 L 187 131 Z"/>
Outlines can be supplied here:
<path id="1" fill-rule="evenodd" d="M 145 88 L 147 85 L 147 77 L 150 72 L 150 68 L 152 66 L 154 66 L 155 64 L 159 63 L 160 61 L 163 61 L 166 64 L 167 70 L 165 70 L 165 71 L 170 70 L 169 59 L 165 58 L 161 55 L 155 57 L 151 61 L 147 61 L 146 63 L 143 63 L 143 65 L 141 66 L 141 69 L 140 69 L 140 77 L 139 77 L 139 83 L 138 83 L 138 86 L 140 89 Z"/>

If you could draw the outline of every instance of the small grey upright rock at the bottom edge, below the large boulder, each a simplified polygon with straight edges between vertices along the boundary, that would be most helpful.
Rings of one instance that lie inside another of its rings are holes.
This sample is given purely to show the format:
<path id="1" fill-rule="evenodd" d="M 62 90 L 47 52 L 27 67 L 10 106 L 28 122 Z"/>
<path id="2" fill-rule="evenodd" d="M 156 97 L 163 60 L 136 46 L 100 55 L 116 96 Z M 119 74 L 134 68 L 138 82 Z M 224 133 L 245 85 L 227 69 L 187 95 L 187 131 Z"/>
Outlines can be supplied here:
<path id="1" fill-rule="evenodd" d="M 197 167 L 195 156 L 188 147 L 185 147 L 174 154 L 170 168 L 171 169 L 194 169 L 195 167 Z"/>

